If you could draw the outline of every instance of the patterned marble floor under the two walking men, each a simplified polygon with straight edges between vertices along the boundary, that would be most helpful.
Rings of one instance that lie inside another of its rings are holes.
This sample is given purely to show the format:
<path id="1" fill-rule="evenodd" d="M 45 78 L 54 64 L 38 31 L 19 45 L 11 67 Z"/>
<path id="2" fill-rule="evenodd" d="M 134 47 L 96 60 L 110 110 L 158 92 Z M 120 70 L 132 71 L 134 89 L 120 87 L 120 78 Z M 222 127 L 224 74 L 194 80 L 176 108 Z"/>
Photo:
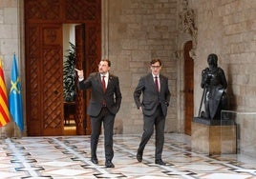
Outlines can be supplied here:
<path id="1" fill-rule="evenodd" d="M 90 161 L 90 136 L 7 138 L 0 141 L 0 178 L 256 178 L 256 160 L 240 154 L 208 156 L 193 152 L 190 136 L 165 134 L 162 159 L 155 165 L 154 137 L 136 159 L 140 135 L 115 135 L 116 168 L 105 168 L 103 137 L 97 149 L 99 164 Z"/>

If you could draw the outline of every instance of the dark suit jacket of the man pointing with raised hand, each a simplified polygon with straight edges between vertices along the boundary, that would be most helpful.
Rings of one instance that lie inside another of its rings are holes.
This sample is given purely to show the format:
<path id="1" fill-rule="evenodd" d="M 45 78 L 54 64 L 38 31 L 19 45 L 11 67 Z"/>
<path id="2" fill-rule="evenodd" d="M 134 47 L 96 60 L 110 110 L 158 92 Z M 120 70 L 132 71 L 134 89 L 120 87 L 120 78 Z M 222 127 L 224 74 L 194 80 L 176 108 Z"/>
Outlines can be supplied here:
<path id="1" fill-rule="evenodd" d="M 90 116 L 97 116 L 102 108 L 103 99 L 106 102 L 106 106 L 113 114 L 117 114 L 121 104 L 121 92 L 119 88 L 119 80 L 117 76 L 109 74 L 108 86 L 103 92 L 101 86 L 100 73 L 94 72 L 83 81 L 78 83 L 79 89 L 91 89 L 90 105 L 87 109 L 87 114 Z"/>

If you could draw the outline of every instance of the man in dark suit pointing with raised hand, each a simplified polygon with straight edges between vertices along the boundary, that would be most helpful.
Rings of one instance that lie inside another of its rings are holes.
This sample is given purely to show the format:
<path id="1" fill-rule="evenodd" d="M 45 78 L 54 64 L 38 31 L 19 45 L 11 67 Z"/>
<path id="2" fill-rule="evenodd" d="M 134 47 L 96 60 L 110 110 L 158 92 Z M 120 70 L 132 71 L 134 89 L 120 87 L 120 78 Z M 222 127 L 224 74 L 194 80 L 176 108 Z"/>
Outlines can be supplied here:
<path id="1" fill-rule="evenodd" d="M 96 147 L 100 135 L 101 124 L 104 127 L 105 165 L 107 168 L 115 168 L 112 163 L 113 128 L 117 111 L 121 104 L 121 92 L 117 76 L 109 73 L 111 62 L 103 59 L 98 65 L 98 72 L 93 72 L 84 79 L 83 70 L 76 70 L 78 74 L 78 88 L 91 89 L 91 100 L 87 114 L 91 117 L 91 161 L 98 164 Z"/>

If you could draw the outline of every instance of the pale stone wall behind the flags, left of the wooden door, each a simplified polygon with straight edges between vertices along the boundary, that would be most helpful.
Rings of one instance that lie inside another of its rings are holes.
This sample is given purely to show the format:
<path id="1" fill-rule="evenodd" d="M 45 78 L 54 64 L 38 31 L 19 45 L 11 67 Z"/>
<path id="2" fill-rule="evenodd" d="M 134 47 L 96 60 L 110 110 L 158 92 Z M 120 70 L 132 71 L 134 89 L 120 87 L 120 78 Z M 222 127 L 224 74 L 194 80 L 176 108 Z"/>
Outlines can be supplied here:
<path id="1" fill-rule="evenodd" d="M 24 45 L 21 44 L 22 26 L 20 26 L 20 17 L 22 16 L 23 1 L 18 0 L 1 0 L 0 1 L 0 56 L 3 59 L 3 69 L 7 86 L 7 93 L 11 87 L 11 65 L 13 53 L 16 55 L 20 70 L 21 83 L 24 85 L 25 73 L 24 62 L 20 60 L 21 50 Z M 25 97 L 25 95 L 23 95 Z M 0 137 L 20 136 L 15 125 L 11 122 L 3 128 L 0 128 Z"/>

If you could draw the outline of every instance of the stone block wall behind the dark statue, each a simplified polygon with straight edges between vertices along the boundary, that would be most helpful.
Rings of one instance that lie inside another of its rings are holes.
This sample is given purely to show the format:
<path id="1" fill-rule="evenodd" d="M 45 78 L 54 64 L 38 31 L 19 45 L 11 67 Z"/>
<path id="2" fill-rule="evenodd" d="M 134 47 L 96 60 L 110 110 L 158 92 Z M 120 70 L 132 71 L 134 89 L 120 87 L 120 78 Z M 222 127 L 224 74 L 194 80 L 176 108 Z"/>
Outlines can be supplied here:
<path id="1" fill-rule="evenodd" d="M 195 60 L 195 111 L 200 106 L 200 73 L 209 53 L 219 56 L 228 89 L 229 108 L 256 110 L 256 1 L 191 0 L 197 10 L 198 48 Z"/>

